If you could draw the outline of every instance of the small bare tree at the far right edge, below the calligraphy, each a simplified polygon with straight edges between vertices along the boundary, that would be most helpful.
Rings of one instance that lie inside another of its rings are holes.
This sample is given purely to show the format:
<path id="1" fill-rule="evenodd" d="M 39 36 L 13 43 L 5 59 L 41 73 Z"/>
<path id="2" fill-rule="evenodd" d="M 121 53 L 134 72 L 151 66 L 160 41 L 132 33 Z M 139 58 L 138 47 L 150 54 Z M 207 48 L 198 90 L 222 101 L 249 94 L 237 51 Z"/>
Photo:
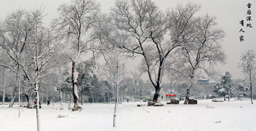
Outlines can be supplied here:
<path id="1" fill-rule="evenodd" d="M 256 53 L 254 50 L 248 50 L 246 53 L 243 53 L 241 56 L 242 63 L 239 63 L 239 67 L 242 68 L 242 72 L 245 74 L 246 78 L 250 82 L 250 92 L 251 92 L 251 103 L 253 103 L 253 93 L 252 85 L 255 82 L 256 78 Z"/>

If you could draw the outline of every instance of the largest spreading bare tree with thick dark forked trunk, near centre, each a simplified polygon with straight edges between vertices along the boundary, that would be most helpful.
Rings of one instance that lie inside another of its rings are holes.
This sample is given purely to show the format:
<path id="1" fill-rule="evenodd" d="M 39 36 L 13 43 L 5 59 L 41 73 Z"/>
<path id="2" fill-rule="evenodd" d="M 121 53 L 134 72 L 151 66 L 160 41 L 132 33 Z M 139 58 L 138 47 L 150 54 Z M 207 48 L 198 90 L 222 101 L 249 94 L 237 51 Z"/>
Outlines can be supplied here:
<path id="1" fill-rule="evenodd" d="M 169 23 L 167 15 L 162 13 L 151 0 L 117 0 L 116 6 L 111 10 L 117 27 L 130 36 L 123 43 L 118 43 L 118 46 L 143 57 L 146 65 L 144 70 L 147 71 L 156 89 L 154 101 L 157 101 L 161 87 L 163 62 L 173 49 L 173 46 L 169 46 L 171 48 L 167 53 L 160 46 L 163 41 L 162 36 L 166 34 L 169 27 L 165 24 Z M 158 71 L 154 80 L 155 69 Z"/>

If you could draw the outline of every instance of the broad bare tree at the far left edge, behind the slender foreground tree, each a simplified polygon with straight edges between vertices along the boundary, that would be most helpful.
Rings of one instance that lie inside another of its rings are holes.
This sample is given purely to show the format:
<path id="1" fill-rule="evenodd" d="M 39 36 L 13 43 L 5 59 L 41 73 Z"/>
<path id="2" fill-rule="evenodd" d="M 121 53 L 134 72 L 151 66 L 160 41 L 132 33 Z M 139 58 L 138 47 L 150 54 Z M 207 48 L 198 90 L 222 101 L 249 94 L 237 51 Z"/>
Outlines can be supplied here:
<path id="1" fill-rule="evenodd" d="M 23 65 L 21 61 L 25 58 L 24 55 L 27 55 L 27 41 L 28 36 L 33 28 L 31 23 L 31 16 L 28 11 L 19 9 L 15 12 L 9 14 L 1 26 L 1 42 L 0 46 L 2 52 L 4 52 L 5 57 L 4 61 L 0 61 L 0 66 L 9 66 L 15 68 L 18 72 L 23 72 L 23 78 L 30 80 L 28 65 Z M 16 77 L 18 81 L 18 76 Z M 16 81 L 16 82 L 17 82 Z M 17 84 L 16 84 L 17 85 Z M 13 106 L 14 100 L 18 92 L 18 87 L 14 87 L 12 100 L 9 107 Z M 32 89 L 31 91 L 32 92 Z M 28 94 L 29 96 L 29 94 Z M 28 106 L 30 101 L 28 101 Z"/>

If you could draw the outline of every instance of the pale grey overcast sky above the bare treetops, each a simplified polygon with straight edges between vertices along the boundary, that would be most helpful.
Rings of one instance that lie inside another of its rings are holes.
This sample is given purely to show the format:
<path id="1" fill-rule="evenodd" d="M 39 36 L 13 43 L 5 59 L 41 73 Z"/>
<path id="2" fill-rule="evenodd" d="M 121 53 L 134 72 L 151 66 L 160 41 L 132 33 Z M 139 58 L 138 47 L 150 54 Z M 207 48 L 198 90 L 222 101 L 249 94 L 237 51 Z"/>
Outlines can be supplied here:
<path id="1" fill-rule="evenodd" d="M 115 0 L 96 0 L 101 3 L 102 12 L 109 12 L 110 7 L 115 5 Z M 175 7 L 177 3 L 195 2 L 201 4 L 201 11 L 197 15 L 205 15 L 206 13 L 216 16 L 219 27 L 224 29 L 226 36 L 223 41 L 224 50 L 227 54 L 227 64 L 219 65 L 218 68 L 223 71 L 229 71 L 233 79 L 242 78 L 244 74 L 241 68 L 238 68 L 240 56 L 249 49 L 256 51 L 256 0 L 153 0 L 160 9 Z M 57 8 L 61 3 L 67 3 L 70 0 L 0 0 L 0 19 L 4 19 L 8 13 L 16 9 L 33 9 L 34 7 L 45 7 L 44 23 L 49 24 L 52 19 L 58 16 Z M 251 3 L 251 15 L 247 15 L 249 10 L 247 4 Z M 247 16 L 252 17 L 252 28 L 246 27 Z M 245 21 L 245 25 L 241 26 L 239 22 Z M 239 33 L 240 29 L 245 33 Z M 239 37 L 243 35 L 244 41 L 240 42 Z"/>

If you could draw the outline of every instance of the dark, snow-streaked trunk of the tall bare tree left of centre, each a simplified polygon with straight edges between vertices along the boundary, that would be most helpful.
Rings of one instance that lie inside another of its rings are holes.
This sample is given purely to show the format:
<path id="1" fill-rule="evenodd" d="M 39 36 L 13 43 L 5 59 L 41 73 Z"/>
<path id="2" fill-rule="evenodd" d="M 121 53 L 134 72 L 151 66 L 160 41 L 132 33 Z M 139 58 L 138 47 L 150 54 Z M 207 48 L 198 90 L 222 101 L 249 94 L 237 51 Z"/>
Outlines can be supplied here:
<path id="1" fill-rule="evenodd" d="M 73 93 L 73 98 L 74 98 L 74 110 L 78 110 L 78 91 L 77 91 L 77 77 L 78 77 L 78 72 L 76 71 L 76 63 L 72 62 L 72 93 Z"/>

